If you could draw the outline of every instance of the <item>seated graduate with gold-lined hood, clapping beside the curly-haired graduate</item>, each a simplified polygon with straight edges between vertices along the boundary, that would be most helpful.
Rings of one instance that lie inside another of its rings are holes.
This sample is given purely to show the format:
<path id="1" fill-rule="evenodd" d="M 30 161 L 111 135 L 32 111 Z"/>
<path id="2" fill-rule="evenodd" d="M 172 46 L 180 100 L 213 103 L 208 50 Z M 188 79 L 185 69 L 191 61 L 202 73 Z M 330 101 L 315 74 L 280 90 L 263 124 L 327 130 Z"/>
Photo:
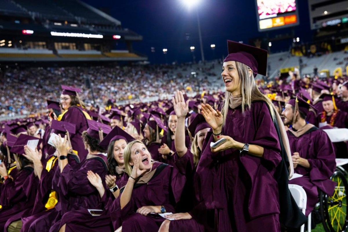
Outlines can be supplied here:
<path id="1" fill-rule="evenodd" d="M 51 129 L 61 135 L 65 135 L 66 133 L 69 147 L 71 147 L 68 135 L 75 133 L 76 126 L 69 122 L 57 120 L 52 120 L 50 126 Z M 49 138 L 45 139 L 48 142 Z M 52 146 L 52 150 L 54 149 L 55 147 Z M 71 153 L 68 153 L 69 164 L 74 169 L 78 169 L 80 167 L 80 159 L 72 150 L 70 151 Z M 65 198 L 58 198 L 60 171 L 57 170 L 60 170 L 60 167 L 58 165 L 57 151 L 49 155 L 43 162 L 41 162 L 42 156 L 41 151 L 32 150 L 30 147 L 25 149 L 25 157 L 34 164 L 34 171 L 39 178 L 39 188 L 32 214 L 22 217 L 23 225 L 21 231 L 23 232 L 48 231 L 52 222 L 60 218 L 61 209 L 67 208 L 69 205 L 69 202 Z M 41 157 L 41 160 L 38 157 Z M 56 207 L 57 205 L 58 207 Z M 62 205 L 64 206 L 62 207 Z"/>

